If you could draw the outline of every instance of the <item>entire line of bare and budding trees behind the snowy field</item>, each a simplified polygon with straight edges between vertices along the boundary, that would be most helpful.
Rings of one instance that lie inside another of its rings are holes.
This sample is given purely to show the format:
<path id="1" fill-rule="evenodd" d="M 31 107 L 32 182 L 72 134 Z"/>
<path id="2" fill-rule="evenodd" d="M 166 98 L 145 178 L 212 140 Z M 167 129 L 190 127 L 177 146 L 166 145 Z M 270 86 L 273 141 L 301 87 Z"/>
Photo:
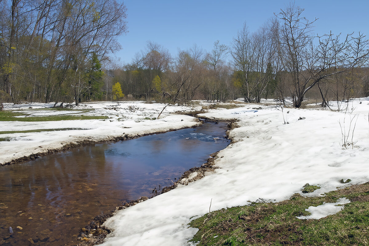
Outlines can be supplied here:
<path id="1" fill-rule="evenodd" d="M 109 62 L 127 31 L 124 3 L 113 0 L 0 0 L 2 102 L 192 99 L 245 102 L 306 98 L 322 106 L 369 96 L 365 35 L 314 35 L 317 20 L 290 3 L 254 33 L 240 24 L 232 43 L 210 52 L 194 45 L 172 56 L 148 41 L 131 64 Z M 231 60 L 226 60 L 231 57 Z M 102 65 L 103 64 L 103 67 Z M 121 91 L 120 91 L 120 88 Z M 122 93 L 123 92 L 123 93 Z"/>

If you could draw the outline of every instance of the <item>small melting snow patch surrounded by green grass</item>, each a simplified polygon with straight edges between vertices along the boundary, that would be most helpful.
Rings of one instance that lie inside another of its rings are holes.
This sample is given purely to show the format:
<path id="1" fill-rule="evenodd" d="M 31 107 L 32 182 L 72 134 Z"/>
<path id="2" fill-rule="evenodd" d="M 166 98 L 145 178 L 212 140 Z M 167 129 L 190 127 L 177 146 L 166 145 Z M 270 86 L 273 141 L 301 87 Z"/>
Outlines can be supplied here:
<path id="1" fill-rule="evenodd" d="M 317 207 L 310 206 L 306 209 L 306 211 L 310 212 L 311 215 L 308 216 L 298 216 L 298 219 L 320 219 L 324 218 L 328 215 L 337 214 L 339 211 L 344 209 L 343 204 L 349 203 L 345 197 L 339 198 L 335 203 L 325 203 L 323 205 L 319 205 Z"/>

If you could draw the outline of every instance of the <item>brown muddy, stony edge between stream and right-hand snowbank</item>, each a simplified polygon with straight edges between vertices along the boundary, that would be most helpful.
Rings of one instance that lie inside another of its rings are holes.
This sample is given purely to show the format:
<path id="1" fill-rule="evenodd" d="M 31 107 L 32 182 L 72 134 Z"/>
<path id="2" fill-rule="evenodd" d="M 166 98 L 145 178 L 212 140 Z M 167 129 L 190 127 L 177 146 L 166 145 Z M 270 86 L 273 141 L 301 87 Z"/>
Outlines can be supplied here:
<path id="1" fill-rule="evenodd" d="M 198 112 L 194 112 L 188 115 L 197 117 Z M 232 129 L 235 129 L 238 126 L 237 120 L 225 120 L 225 119 L 207 119 L 206 117 L 201 117 L 201 119 L 204 119 L 208 122 L 228 122 L 228 130 L 225 132 L 228 139 L 231 140 L 231 144 L 234 143 L 233 139 L 230 138 L 229 133 Z M 117 140 L 119 141 L 119 140 Z M 207 159 L 207 162 L 201 165 L 200 167 L 194 167 L 190 168 L 186 172 L 182 174 L 182 176 L 178 179 L 177 182 L 175 182 L 172 186 L 165 186 L 160 190 L 156 189 L 156 187 L 153 189 L 152 193 L 155 197 L 157 195 L 166 193 L 170 190 L 175 189 L 178 185 L 188 185 L 191 182 L 194 182 L 196 180 L 202 179 L 207 173 L 214 172 L 215 169 L 218 169 L 219 167 L 215 166 L 215 159 L 217 158 L 223 158 L 223 156 L 218 156 L 218 152 L 215 152 L 210 155 L 210 158 Z M 80 229 L 79 236 L 77 239 L 79 240 L 79 243 L 76 244 L 76 246 L 92 246 L 97 245 L 104 242 L 104 239 L 106 236 L 111 233 L 112 231 L 110 229 L 105 228 L 103 223 L 110 217 L 113 217 L 114 214 L 122 209 L 134 206 L 138 203 L 142 203 L 143 201 L 146 201 L 150 199 L 149 197 L 143 196 L 135 201 L 128 201 L 124 202 L 121 205 L 118 205 L 114 210 L 111 210 L 109 213 L 104 215 L 97 215 L 92 221 L 89 222 L 84 228 Z"/>

